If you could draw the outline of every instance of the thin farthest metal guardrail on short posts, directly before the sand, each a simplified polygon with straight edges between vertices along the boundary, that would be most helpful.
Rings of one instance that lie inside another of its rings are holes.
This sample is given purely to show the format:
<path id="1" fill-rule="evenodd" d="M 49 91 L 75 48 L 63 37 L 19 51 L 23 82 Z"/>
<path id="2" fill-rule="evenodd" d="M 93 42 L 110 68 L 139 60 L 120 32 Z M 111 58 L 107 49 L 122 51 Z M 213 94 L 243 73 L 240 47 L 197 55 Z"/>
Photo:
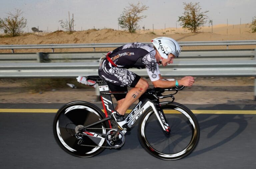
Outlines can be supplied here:
<path id="1" fill-rule="evenodd" d="M 152 44 L 145 42 L 147 44 Z M 90 43 L 90 44 L 20 44 L 20 45 L 0 45 L 0 49 L 54 49 L 57 48 L 105 48 L 105 47 L 119 47 L 126 43 Z M 228 46 L 230 45 L 256 45 L 256 40 L 250 41 L 193 41 L 193 42 L 179 42 L 180 46 Z"/>

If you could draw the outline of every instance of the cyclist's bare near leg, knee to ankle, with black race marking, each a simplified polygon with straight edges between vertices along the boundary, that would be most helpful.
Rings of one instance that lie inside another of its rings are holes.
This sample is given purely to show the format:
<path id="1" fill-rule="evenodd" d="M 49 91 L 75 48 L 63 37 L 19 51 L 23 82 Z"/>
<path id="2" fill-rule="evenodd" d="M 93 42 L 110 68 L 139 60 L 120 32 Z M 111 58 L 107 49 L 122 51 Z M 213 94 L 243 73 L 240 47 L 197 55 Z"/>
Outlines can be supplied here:
<path id="1" fill-rule="evenodd" d="M 139 79 L 138 83 L 132 88 L 127 94 L 124 100 L 120 101 L 116 111 L 120 115 L 124 115 L 126 110 L 148 89 L 148 82 L 142 78 Z M 122 102 L 122 103 L 121 103 Z"/>

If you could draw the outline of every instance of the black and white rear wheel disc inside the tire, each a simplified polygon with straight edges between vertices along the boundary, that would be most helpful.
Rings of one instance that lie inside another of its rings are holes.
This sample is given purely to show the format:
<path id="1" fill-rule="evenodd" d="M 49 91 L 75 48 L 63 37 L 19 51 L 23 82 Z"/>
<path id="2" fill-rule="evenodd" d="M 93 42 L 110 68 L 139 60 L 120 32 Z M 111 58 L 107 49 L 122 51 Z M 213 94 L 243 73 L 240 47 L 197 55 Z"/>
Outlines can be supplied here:
<path id="1" fill-rule="evenodd" d="M 56 133 L 62 147 L 70 153 L 78 156 L 86 156 L 95 153 L 104 144 L 105 138 L 97 138 L 92 136 L 82 135 L 83 144 L 78 144 L 78 139 L 75 137 L 77 126 L 87 126 L 101 120 L 99 113 L 88 106 L 70 106 L 63 110 L 56 122 Z M 92 128 L 92 127 L 91 127 Z M 89 132 L 99 132 L 106 134 L 104 124 L 94 125 L 93 128 L 87 129 Z M 92 146 L 85 146 L 92 145 Z"/>

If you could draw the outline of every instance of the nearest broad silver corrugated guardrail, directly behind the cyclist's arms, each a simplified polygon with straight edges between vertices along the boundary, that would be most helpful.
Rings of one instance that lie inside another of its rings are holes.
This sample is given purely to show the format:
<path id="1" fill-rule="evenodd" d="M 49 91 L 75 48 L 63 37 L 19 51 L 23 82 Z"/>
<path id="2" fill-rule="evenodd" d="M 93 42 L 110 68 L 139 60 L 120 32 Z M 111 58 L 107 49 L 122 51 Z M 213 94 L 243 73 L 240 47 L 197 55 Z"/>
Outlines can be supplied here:
<path id="1" fill-rule="evenodd" d="M 0 63 L 1 78 L 61 78 L 78 75 L 98 75 L 98 62 L 70 63 Z M 147 77 L 145 69 L 129 69 Z M 163 76 L 182 77 L 241 77 L 256 76 L 256 60 L 215 60 L 191 61 L 175 60 L 174 64 L 160 67 Z"/>

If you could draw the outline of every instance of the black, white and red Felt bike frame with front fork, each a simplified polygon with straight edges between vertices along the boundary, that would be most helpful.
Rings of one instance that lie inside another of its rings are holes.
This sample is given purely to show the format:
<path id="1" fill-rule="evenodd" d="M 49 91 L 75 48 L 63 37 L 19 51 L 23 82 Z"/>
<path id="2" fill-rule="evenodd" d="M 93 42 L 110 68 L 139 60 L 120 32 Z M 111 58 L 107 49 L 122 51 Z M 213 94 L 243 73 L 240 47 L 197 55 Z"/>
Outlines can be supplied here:
<path id="1" fill-rule="evenodd" d="M 102 105 L 105 111 L 105 119 L 100 120 L 99 122 L 93 123 L 89 126 L 85 126 L 82 129 L 86 129 L 87 127 L 91 127 L 95 124 L 102 123 L 104 121 L 108 121 L 110 124 L 111 120 L 111 113 L 114 112 L 114 105 L 112 102 L 111 95 L 112 94 L 124 94 L 127 92 L 110 92 L 107 82 L 105 81 L 98 81 L 99 85 Z M 143 94 L 139 98 L 139 103 L 133 108 L 133 110 L 128 114 L 128 116 L 123 121 L 123 124 L 127 124 L 129 128 L 132 128 L 134 123 L 139 119 L 139 117 L 148 109 L 152 108 L 163 131 L 167 134 L 170 133 L 170 127 L 167 123 L 163 110 L 159 106 L 159 99 L 156 96 L 152 96 L 152 94 Z M 110 125 L 111 127 L 111 125 Z M 94 134 L 94 133 L 91 133 Z"/>

